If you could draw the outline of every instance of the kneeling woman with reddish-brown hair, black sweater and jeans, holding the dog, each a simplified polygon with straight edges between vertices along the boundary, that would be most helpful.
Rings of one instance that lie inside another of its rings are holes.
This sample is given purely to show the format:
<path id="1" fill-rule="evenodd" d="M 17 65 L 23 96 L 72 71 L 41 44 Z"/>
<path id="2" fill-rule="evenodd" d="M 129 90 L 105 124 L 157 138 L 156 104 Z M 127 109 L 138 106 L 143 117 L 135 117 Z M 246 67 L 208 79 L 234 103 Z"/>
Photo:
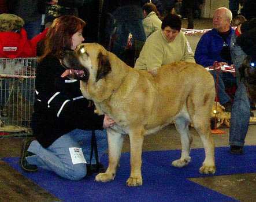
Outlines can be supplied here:
<path id="1" fill-rule="evenodd" d="M 83 42 L 86 23 L 75 16 L 61 16 L 51 25 L 39 57 L 35 80 L 35 112 L 32 129 L 36 140 L 26 141 L 21 156 L 25 171 L 38 167 L 61 177 L 78 180 L 86 176 L 91 157 L 92 130 L 101 156 L 107 148 L 107 128 L 114 121 L 94 114 L 94 106 L 83 97 L 78 80 L 62 78 L 65 69 L 59 57 L 63 50 L 75 50 Z"/>

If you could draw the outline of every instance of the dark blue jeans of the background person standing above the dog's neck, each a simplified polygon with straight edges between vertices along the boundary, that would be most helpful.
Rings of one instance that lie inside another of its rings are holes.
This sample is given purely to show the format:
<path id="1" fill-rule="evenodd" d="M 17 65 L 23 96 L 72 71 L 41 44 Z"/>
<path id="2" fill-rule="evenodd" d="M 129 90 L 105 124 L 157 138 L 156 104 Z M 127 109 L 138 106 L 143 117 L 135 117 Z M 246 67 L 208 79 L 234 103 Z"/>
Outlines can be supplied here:
<path id="1" fill-rule="evenodd" d="M 117 39 L 114 42 L 113 53 L 117 55 L 118 58 L 122 58 L 125 47 L 127 46 L 127 40 L 129 33 L 132 34 L 133 39 L 144 42 L 146 40 L 146 35 L 144 33 L 144 28 L 142 25 L 142 19 L 131 20 L 131 21 L 121 21 L 117 23 L 116 35 Z"/>

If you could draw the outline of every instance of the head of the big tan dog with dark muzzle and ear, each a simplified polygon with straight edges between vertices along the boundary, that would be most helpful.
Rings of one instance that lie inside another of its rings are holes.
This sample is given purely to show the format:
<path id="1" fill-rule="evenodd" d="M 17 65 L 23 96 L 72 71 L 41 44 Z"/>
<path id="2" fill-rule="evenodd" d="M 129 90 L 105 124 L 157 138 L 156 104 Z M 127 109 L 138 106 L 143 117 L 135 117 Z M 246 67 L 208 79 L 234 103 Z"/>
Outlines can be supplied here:
<path id="1" fill-rule="evenodd" d="M 98 82 L 110 71 L 107 51 L 97 43 L 81 44 L 75 51 L 62 51 L 62 65 L 66 69 L 75 70 L 77 80 L 87 82 L 89 79 Z"/>

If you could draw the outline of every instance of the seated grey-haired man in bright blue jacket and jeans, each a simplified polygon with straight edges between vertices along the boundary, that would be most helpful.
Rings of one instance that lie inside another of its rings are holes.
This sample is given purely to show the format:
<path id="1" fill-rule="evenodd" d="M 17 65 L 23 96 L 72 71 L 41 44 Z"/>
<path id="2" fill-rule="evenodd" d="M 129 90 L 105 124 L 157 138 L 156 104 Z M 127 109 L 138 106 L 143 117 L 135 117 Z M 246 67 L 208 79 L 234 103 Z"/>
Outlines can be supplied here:
<path id="1" fill-rule="evenodd" d="M 235 32 L 230 26 L 232 13 L 229 9 L 221 7 L 213 14 L 213 29 L 206 32 L 198 42 L 195 50 L 195 61 L 204 67 L 213 66 L 214 62 L 218 65 L 231 65 L 230 42 L 231 36 Z M 210 71 L 216 82 L 217 73 Z M 236 78 L 232 73 L 220 72 L 218 75 L 218 98 L 220 104 L 226 111 L 231 111 L 231 98 L 225 92 L 225 85 L 235 85 Z"/>

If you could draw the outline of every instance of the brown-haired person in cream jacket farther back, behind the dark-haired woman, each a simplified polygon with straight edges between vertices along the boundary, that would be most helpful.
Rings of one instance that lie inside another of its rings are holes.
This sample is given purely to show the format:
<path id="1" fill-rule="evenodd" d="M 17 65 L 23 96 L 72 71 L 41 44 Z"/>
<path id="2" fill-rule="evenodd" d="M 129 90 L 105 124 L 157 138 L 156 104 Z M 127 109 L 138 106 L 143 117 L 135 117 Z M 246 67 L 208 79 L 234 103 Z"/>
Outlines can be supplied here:
<path id="1" fill-rule="evenodd" d="M 161 29 L 162 21 L 158 17 L 157 8 L 153 3 L 145 3 L 142 7 L 144 19 L 142 21 L 144 32 L 146 38 L 148 38 L 151 33 Z"/>

